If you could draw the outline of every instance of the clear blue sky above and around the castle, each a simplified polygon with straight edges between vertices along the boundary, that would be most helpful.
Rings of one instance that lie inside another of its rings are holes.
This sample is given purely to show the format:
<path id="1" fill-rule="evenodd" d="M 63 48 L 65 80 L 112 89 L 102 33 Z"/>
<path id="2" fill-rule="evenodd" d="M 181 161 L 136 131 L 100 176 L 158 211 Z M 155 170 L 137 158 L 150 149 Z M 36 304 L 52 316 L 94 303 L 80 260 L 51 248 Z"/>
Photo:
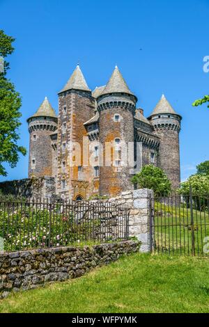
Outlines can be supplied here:
<path id="1" fill-rule="evenodd" d="M 45 95 L 58 109 L 57 92 L 79 61 L 88 86 L 107 83 L 117 64 L 145 115 L 162 93 L 180 115 L 182 180 L 209 159 L 203 72 L 208 49 L 209 0 L 0 0 L 0 29 L 13 35 L 8 77 L 22 95 L 20 144 L 29 149 L 26 118 Z M 140 50 L 142 49 L 142 50 Z M 0 180 L 27 177 L 28 157 Z"/>

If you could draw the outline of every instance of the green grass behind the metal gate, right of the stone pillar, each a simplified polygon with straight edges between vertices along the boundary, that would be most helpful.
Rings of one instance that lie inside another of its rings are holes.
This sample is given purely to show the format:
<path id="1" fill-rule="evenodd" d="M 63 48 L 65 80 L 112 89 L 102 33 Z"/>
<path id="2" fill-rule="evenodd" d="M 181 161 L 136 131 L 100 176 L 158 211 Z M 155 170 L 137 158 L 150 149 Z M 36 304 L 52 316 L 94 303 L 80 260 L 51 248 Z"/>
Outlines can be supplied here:
<path id="1" fill-rule="evenodd" d="M 209 236 L 209 215 L 194 208 L 194 248 L 196 255 L 206 255 L 204 239 Z M 155 203 L 155 250 L 167 253 L 192 253 L 191 212 L 186 207 Z"/>

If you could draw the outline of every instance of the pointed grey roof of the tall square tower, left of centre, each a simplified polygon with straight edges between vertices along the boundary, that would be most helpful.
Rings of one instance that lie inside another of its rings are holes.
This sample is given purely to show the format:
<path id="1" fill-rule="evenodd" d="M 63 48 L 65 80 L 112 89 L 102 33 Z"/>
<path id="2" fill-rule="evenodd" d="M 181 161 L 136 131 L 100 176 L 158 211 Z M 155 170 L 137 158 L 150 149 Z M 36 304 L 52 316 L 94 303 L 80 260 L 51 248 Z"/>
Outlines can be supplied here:
<path id="1" fill-rule="evenodd" d="M 84 90 L 84 91 L 91 91 L 90 88 L 88 88 L 88 85 L 86 83 L 86 80 L 84 79 L 84 75 L 82 73 L 82 70 L 80 69 L 79 65 L 75 68 L 74 72 L 72 73 L 70 79 L 65 84 L 64 88 L 59 92 L 65 92 L 67 90 Z"/>

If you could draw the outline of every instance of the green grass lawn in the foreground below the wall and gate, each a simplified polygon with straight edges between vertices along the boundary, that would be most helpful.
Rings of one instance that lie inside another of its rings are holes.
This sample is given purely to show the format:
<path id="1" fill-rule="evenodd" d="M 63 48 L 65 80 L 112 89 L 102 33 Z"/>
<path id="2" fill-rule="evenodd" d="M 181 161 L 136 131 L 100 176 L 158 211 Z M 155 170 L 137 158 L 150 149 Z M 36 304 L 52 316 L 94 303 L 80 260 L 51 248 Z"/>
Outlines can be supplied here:
<path id="1" fill-rule="evenodd" d="M 207 257 L 134 254 L 68 282 L 10 294 L 0 312 L 209 312 Z"/>

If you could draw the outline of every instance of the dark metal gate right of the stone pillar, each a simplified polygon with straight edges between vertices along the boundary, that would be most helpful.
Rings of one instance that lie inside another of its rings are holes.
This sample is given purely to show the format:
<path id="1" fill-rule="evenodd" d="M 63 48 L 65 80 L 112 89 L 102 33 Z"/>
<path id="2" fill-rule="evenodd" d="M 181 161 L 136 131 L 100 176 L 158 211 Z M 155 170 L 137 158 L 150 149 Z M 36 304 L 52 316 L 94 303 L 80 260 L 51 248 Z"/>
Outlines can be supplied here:
<path id="1" fill-rule="evenodd" d="M 152 207 L 154 251 L 209 255 L 209 195 L 158 197 Z"/>

